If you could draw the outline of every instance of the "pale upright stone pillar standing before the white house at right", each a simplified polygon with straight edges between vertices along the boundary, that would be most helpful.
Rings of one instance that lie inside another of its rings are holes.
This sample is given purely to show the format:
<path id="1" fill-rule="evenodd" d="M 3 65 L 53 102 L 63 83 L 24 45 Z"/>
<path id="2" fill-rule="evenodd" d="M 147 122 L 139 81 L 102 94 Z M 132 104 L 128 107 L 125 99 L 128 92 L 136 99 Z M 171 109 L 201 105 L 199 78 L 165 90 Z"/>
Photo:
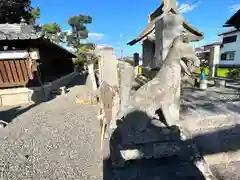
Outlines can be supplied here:
<path id="1" fill-rule="evenodd" d="M 209 73 L 208 75 L 214 77 L 217 73 L 216 67 L 219 64 L 220 60 L 220 45 L 216 45 L 210 49 L 210 56 L 209 56 Z"/>

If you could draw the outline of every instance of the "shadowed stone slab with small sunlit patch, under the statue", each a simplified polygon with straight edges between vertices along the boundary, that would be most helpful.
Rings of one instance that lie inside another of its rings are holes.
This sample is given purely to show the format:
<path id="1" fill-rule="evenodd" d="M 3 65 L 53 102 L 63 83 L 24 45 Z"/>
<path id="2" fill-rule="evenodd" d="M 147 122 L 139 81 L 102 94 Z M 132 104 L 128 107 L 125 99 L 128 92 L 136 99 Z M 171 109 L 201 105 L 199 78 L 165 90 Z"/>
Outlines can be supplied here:
<path id="1" fill-rule="evenodd" d="M 192 153 L 190 146 L 182 141 L 168 141 L 157 143 L 145 143 L 138 145 L 122 146 L 115 144 L 114 153 L 111 154 L 111 160 L 115 167 L 122 167 L 129 161 L 164 158 L 176 156 L 181 159 L 190 158 Z"/>

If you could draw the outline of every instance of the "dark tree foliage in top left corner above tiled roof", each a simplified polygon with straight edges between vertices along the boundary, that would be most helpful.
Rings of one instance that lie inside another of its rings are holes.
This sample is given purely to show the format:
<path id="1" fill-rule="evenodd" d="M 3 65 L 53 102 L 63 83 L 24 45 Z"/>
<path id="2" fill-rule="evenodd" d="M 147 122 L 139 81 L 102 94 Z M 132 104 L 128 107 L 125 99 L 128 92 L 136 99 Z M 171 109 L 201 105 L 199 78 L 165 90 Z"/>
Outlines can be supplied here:
<path id="1" fill-rule="evenodd" d="M 0 0 L 0 23 L 32 23 L 40 16 L 40 9 L 31 6 L 31 0 Z M 35 18 L 35 19 L 34 19 Z"/>

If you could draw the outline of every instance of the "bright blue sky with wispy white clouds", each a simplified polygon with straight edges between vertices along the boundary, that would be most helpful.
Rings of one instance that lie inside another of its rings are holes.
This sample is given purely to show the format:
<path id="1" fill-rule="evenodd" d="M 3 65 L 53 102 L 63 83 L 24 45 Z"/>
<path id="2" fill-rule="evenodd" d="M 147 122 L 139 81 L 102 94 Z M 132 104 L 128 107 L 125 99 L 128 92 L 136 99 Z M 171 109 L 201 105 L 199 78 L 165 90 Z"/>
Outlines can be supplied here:
<path id="1" fill-rule="evenodd" d="M 217 33 L 224 30 L 225 21 L 240 9 L 239 0 L 178 0 L 178 7 L 185 7 L 184 18 L 204 33 L 198 44 L 220 40 Z M 32 0 L 33 6 L 41 8 L 40 24 L 56 22 L 68 30 L 69 17 L 78 14 L 90 15 L 93 23 L 88 25 L 89 41 L 111 45 L 120 55 L 120 34 L 123 35 L 124 55 L 141 53 L 141 44 L 127 46 L 147 25 L 148 14 L 162 0 Z"/>

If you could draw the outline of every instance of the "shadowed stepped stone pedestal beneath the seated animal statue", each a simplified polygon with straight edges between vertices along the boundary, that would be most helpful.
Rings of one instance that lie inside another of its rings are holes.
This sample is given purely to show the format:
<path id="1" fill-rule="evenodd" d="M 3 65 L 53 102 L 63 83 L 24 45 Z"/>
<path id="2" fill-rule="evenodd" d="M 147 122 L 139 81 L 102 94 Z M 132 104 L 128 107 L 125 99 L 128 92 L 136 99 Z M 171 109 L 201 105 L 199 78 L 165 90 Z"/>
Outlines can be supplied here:
<path id="1" fill-rule="evenodd" d="M 151 121 L 142 131 L 136 131 L 129 124 L 120 126 L 118 131 L 112 135 L 113 166 L 123 167 L 128 161 L 141 159 L 161 159 L 172 156 L 180 159 L 189 158 L 191 149 L 181 140 L 180 136 L 181 133 L 177 126 L 156 127 L 151 124 Z"/>

